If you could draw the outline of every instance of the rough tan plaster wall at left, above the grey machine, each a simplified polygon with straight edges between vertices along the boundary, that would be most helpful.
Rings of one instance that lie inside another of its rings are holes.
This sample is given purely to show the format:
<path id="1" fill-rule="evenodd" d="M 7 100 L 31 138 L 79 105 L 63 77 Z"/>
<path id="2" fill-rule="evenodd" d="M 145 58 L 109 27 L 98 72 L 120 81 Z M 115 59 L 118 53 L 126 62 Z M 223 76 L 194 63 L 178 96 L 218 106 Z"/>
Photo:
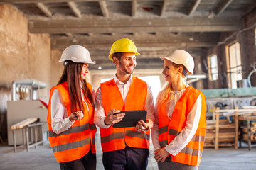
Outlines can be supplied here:
<path id="1" fill-rule="evenodd" d="M 50 90 L 50 38 L 28 32 L 28 21 L 8 4 L 0 4 L 0 132 L 6 141 L 6 101 L 11 100 L 11 83 L 37 79 L 48 86 L 40 96 L 48 98 Z"/>

